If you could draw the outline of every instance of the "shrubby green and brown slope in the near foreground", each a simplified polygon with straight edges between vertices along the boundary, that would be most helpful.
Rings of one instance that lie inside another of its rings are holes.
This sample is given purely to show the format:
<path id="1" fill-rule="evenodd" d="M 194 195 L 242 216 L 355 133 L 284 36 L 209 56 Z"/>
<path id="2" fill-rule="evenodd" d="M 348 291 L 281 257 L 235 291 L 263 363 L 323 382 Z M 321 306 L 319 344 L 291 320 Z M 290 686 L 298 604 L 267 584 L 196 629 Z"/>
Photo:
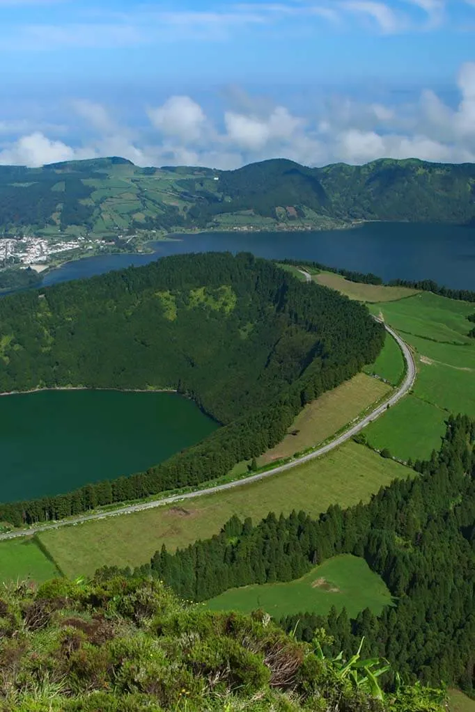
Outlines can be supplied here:
<path id="1" fill-rule="evenodd" d="M 352 679 L 314 650 L 262 612 L 212 614 L 156 580 L 19 584 L 0 597 L 0 708 L 442 712 L 435 691 L 385 695 L 363 681 L 364 666 Z"/>

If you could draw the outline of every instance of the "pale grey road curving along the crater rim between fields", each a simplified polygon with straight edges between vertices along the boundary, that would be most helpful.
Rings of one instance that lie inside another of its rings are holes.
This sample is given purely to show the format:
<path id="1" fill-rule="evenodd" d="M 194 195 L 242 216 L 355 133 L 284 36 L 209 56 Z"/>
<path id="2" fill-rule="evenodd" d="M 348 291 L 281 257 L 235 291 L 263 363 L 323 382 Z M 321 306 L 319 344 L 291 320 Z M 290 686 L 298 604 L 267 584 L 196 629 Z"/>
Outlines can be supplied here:
<path id="1" fill-rule="evenodd" d="M 312 279 L 311 275 L 304 270 L 301 270 L 301 272 L 306 275 L 307 281 L 310 282 Z M 376 317 L 375 317 L 375 319 L 377 321 L 381 321 L 380 319 L 377 319 Z M 320 447 L 318 450 L 310 452 L 308 455 L 299 457 L 298 459 L 293 460 L 292 462 L 288 462 L 285 465 L 280 465 L 278 467 L 274 467 L 271 470 L 268 470 L 266 472 L 262 472 L 257 475 L 251 475 L 251 476 L 246 477 L 241 480 L 236 480 L 234 482 L 228 482 L 224 485 L 216 485 L 215 487 L 209 487 L 207 489 L 198 490 L 195 492 L 189 492 L 187 494 L 172 495 L 170 497 L 164 497 L 163 499 L 155 500 L 153 502 L 132 504 L 130 506 L 121 507 L 120 509 L 115 509 L 110 512 L 85 514 L 80 517 L 75 517 L 74 519 L 68 519 L 68 520 L 63 520 L 61 522 L 33 526 L 29 529 L 22 529 L 22 530 L 8 533 L 8 534 L 0 534 L 0 540 L 2 540 L 2 539 L 16 539 L 19 537 L 31 536 L 31 535 L 39 533 L 39 532 L 47 531 L 48 529 L 56 529 L 56 528 L 62 527 L 62 526 L 80 524 L 80 523 L 89 522 L 89 521 L 92 521 L 95 519 L 105 519 L 108 517 L 114 517 L 114 516 L 123 515 L 123 514 L 132 514 L 133 512 L 144 511 L 145 509 L 153 509 L 155 507 L 165 506 L 166 504 L 172 504 L 174 502 L 181 502 L 186 499 L 192 499 L 195 497 L 202 497 L 207 494 L 214 494 L 216 492 L 222 492 L 224 490 L 228 490 L 228 489 L 231 489 L 234 487 L 242 487 L 243 485 L 247 485 L 251 482 L 258 482 L 259 480 L 266 479 L 267 477 L 272 477 L 273 475 L 276 475 L 279 472 L 285 472 L 286 470 L 290 470 L 291 468 L 301 465 L 304 462 L 308 462 L 308 461 L 313 460 L 317 457 L 320 457 L 321 455 L 325 455 L 326 453 L 330 452 L 331 450 L 334 450 L 336 447 L 343 444 L 347 440 L 350 440 L 350 438 L 352 438 L 354 435 L 356 435 L 357 433 L 362 431 L 362 429 L 364 429 L 370 422 L 372 422 L 373 420 L 382 416 L 382 414 L 386 412 L 387 407 L 392 407 L 398 401 L 400 401 L 400 399 L 403 398 L 407 394 L 407 392 L 409 392 L 409 390 L 412 388 L 412 386 L 414 384 L 414 381 L 416 379 L 416 366 L 414 364 L 414 359 L 412 357 L 412 353 L 409 350 L 409 347 L 407 346 L 406 343 L 404 343 L 402 338 L 399 335 L 397 335 L 397 333 L 395 331 L 393 331 L 387 324 L 385 324 L 385 329 L 388 333 L 390 333 L 390 335 L 392 337 L 395 338 L 397 343 L 400 345 L 402 354 L 404 355 L 404 360 L 406 362 L 406 367 L 407 367 L 407 372 L 406 372 L 406 376 L 404 378 L 404 382 L 402 383 L 400 388 L 397 389 L 397 392 L 392 394 L 392 396 L 390 398 L 388 398 L 384 403 L 382 403 L 380 406 L 375 408 L 375 410 L 373 410 L 372 413 L 370 413 L 369 415 L 362 418 L 359 422 L 357 422 L 355 425 L 353 425 L 350 429 L 346 430 L 343 434 L 336 437 L 334 440 L 332 440 L 327 445 Z"/>

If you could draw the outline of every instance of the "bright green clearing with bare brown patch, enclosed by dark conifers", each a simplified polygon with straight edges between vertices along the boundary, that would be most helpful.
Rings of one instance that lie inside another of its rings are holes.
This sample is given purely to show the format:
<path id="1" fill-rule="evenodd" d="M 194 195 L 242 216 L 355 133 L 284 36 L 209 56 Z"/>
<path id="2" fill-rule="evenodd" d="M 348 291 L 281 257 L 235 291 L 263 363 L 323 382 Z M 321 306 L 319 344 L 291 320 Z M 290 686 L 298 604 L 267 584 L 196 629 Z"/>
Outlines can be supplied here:
<path id="1" fill-rule="evenodd" d="M 276 618 L 304 612 L 325 615 L 332 606 L 345 607 L 350 617 L 365 608 L 379 615 L 392 603 L 385 582 L 370 570 L 364 559 L 335 556 L 301 579 L 288 583 L 233 588 L 208 601 L 212 611 L 250 613 L 262 608 Z"/>

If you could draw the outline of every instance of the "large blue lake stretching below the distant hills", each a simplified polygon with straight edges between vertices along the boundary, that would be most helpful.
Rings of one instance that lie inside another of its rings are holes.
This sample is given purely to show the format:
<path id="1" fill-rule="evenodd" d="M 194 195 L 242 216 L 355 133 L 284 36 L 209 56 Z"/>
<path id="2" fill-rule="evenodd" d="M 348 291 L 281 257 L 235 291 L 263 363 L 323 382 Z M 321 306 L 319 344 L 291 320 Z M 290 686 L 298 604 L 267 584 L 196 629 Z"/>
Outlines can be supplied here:
<path id="1" fill-rule="evenodd" d="M 385 281 L 433 279 L 475 290 L 475 229 L 453 225 L 367 223 L 319 232 L 200 233 L 152 244 L 153 253 L 85 258 L 48 273 L 45 286 L 91 277 L 184 252 L 240 251 L 266 258 L 314 260 L 328 266 L 373 272 Z"/>

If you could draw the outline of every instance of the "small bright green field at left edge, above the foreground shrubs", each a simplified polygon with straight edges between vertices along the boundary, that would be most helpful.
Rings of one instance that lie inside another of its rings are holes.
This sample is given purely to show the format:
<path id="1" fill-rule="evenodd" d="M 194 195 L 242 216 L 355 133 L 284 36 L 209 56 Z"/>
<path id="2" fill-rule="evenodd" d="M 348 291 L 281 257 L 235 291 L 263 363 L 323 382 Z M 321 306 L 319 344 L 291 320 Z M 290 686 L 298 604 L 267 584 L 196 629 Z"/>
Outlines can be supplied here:
<path id="1" fill-rule="evenodd" d="M 43 582 L 60 575 L 33 538 L 0 542 L 0 581 Z"/>

